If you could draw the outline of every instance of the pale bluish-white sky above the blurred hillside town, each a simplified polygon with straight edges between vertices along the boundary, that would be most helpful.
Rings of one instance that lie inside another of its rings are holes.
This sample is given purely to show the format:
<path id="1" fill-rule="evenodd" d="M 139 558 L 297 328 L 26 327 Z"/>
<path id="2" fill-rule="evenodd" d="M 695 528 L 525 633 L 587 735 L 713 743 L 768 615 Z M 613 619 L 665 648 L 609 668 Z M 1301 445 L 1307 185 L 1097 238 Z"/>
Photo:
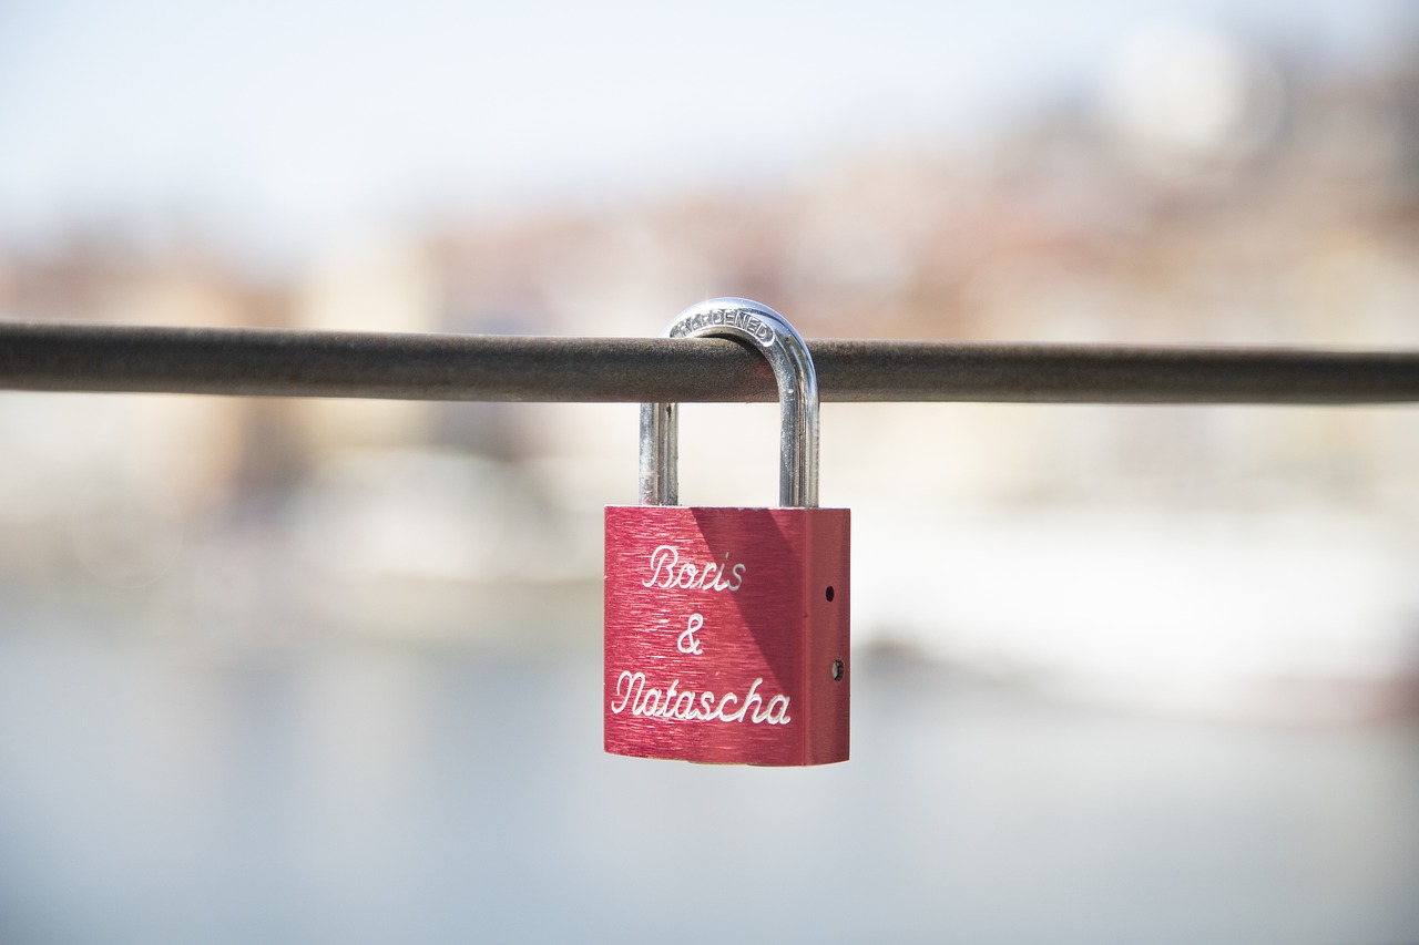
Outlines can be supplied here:
<path id="1" fill-rule="evenodd" d="M 1158 21 L 1362 58 L 1393 0 L 0 0 L 0 240 L 173 214 L 302 253 L 436 213 L 792 177 L 1087 94 Z"/>

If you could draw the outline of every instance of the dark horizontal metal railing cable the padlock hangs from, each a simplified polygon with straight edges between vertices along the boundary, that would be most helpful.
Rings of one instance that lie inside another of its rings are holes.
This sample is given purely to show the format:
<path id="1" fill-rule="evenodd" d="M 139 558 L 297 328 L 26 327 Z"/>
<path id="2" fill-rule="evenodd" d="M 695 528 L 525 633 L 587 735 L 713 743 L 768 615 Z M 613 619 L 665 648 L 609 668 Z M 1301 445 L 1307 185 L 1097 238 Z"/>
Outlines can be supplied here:
<path id="1" fill-rule="evenodd" d="M 812 341 L 823 400 L 1419 402 L 1419 350 Z M 521 402 L 751 402 L 732 341 L 0 321 L 0 389 Z"/>

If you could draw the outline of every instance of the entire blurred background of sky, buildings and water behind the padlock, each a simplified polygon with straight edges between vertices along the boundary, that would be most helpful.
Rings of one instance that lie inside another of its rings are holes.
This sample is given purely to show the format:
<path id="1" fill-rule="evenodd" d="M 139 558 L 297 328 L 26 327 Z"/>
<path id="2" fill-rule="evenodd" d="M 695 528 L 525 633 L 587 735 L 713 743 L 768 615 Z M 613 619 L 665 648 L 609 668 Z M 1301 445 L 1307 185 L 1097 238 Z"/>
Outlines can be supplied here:
<path id="1" fill-rule="evenodd" d="M 0 1 L 0 318 L 714 295 L 1419 348 L 1419 7 Z M 0 392 L 0 942 L 1419 941 L 1419 409 L 826 404 L 815 770 L 600 753 L 636 416 Z"/>

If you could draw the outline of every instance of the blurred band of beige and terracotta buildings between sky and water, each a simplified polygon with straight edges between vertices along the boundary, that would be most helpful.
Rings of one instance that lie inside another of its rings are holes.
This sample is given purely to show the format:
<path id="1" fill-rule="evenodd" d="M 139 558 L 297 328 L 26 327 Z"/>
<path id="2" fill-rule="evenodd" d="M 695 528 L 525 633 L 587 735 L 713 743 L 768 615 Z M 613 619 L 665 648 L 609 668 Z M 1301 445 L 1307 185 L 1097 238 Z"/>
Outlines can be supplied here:
<path id="1" fill-rule="evenodd" d="M 1235 37 L 1152 33 L 1093 98 L 969 149 L 446 221 L 275 287 L 89 234 L 0 250 L 0 315 L 653 335 L 746 295 L 809 338 L 1419 348 L 1416 258 L 1413 55 L 1317 79 Z M 684 491 L 768 502 L 772 409 L 729 410 L 687 421 Z M 237 586 L 297 595 L 292 620 L 335 599 L 336 624 L 457 627 L 499 589 L 595 587 L 600 507 L 634 499 L 634 423 L 623 404 L 7 394 L 0 568 L 199 586 L 264 556 L 275 583 Z M 863 509 L 864 641 L 1131 702 L 1378 711 L 1419 680 L 1416 434 L 1412 410 L 833 404 L 824 501 Z"/>

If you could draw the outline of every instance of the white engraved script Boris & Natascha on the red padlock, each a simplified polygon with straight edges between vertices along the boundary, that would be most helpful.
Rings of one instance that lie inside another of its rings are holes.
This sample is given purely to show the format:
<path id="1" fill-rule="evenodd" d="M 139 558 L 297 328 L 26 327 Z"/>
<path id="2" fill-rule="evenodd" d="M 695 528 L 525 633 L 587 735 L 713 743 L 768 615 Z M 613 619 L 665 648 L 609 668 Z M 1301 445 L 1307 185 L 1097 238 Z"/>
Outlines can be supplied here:
<path id="1" fill-rule="evenodd" d="M 647 576 L 643 587 L 660 590 L 704 590 L 710 593 L 735 593 L 744 586 L 748 568 L 742 563 L 724 560 L 694 562 L 674 545 L 660 545 L 650 553 Z M 688 616 L 685 630 L 677 639 L 677 650 L 685 656 L 702 656 L 704 641 L 695 634 L 704 629 L 704 617 Z M 641 670 L 622 670 L 616 677 L 616 691 L 610 695 L 613 715 L 630 712 L 641 718 L 663 718 L 680 722 L 749 722 L 752 725 L 788 725 L 789 697 L 776 692 L 759 692 L 763 677 L 758 677 L 741 697 L 738 692 L 717 695 L 710 690 L 700 692 L 681 690 L 680 680 L 670 685 L 653 684 Z"/>

